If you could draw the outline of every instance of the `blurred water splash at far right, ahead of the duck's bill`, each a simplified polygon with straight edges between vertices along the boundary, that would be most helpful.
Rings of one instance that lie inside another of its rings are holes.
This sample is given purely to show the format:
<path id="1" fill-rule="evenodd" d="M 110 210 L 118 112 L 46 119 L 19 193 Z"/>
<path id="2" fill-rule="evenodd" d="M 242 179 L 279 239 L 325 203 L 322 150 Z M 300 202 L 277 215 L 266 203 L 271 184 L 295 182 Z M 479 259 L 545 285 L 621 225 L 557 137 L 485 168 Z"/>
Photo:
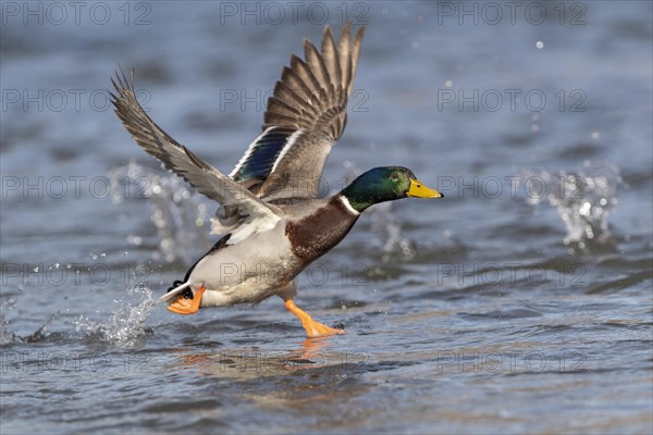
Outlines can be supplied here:
<path id="1" fill-rule="evenodd" d="M 557 210 L 567 229 L 565 245 L 584 251 L 590 244 L 612 243 L 607 217 L 609 210 L 617 206 L 617 188 L 624 185 L 617 166 L 586 161 L 575 173 L 542 171 L 526 173 L 525 179 L 538 179 L 545 186 L 546 194 L 540 195 L 541 188 L 534 194 L 527 185 L 528 202 L 539 204 L 546 198 Z"/>

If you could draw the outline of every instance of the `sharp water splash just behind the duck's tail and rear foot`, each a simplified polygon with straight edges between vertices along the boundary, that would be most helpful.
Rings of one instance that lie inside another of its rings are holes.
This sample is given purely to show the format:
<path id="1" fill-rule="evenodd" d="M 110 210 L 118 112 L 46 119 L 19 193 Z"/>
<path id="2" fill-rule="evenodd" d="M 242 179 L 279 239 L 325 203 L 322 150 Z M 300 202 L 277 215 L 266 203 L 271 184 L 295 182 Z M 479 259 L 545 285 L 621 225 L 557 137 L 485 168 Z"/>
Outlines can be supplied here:
<path id="1" fill-rule="evenodd" d="M 75 322 L 77 332 L 86 338 L 100 343 L 132 347 L 146 336 L 145 321 L 156 307 L 152 291 L 145 285 L 127 289 L 127 295 L 135 300 L 115 300 L 116 311 L 104 322 L 93 321 L 81 316 Z"/>

